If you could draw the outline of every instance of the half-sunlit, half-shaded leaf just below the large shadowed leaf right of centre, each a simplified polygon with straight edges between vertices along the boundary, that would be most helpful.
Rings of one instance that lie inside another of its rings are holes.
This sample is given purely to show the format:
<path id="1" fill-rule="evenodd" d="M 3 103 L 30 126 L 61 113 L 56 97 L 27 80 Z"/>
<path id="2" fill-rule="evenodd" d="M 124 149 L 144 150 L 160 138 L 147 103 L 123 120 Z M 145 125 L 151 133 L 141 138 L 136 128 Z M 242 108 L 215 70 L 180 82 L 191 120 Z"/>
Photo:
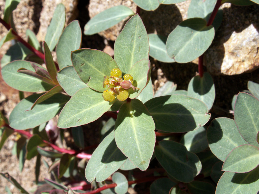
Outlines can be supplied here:
<path id="1" fill-rule="evenodd" d="M 188 151 L 198 153 L 205 150 L 208 147 L 208 141 L 206 137 L 206 129 L 200 127 L 194 131 L 189 131 L 184 134 L 180 141 Z"/>

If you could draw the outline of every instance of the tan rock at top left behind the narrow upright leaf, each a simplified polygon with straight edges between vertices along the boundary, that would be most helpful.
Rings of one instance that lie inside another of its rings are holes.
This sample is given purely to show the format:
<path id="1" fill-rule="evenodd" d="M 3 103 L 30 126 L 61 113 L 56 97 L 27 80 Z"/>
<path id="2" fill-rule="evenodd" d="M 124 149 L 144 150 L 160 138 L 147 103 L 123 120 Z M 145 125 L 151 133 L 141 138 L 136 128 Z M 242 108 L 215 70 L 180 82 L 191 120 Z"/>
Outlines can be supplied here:
<path id="1" fill-rule="evenodd" d="M 40 28 L 37 34 L 37 39 L 39 41 L 43 41 L 47 32 L 48 25 L 53 16 L 54 10 L 57 4 L 63 3 L 66 8 L 66 24 L 70 21 L 74 20 L 77 17 L 77 3 L 78 0 L 56 0 L 56 1 L 48 1 L 44 0 L 42 3 L 42 11 L 40 13 Z"/>

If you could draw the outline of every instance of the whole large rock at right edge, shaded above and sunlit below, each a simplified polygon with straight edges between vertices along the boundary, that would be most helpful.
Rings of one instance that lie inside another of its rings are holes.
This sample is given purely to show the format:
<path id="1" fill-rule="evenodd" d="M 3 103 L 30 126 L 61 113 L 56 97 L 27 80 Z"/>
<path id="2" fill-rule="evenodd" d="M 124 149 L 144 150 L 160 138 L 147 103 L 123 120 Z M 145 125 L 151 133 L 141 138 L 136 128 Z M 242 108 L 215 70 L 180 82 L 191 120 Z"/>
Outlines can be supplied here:
<path id="1" fill-rule="evenodd" d="M 205 53 L 207 71 L 236 75 L 259 67 L 259 6 L 223 4 L 223 21 Z"/>

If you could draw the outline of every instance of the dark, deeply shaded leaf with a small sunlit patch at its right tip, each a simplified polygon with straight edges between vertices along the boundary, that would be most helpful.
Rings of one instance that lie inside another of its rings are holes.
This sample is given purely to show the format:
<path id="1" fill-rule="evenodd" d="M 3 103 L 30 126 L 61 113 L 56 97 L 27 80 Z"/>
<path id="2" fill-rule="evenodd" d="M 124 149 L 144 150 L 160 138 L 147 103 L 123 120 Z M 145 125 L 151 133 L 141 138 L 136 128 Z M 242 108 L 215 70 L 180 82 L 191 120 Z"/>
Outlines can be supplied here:
<path id="1" fill-rule="evenodd" d="M 175 141 L 160 141 L 155 147 L 155 156 L 169 175 L 184 183 L 193 181 L 202 169 L 198 156 Z"/>

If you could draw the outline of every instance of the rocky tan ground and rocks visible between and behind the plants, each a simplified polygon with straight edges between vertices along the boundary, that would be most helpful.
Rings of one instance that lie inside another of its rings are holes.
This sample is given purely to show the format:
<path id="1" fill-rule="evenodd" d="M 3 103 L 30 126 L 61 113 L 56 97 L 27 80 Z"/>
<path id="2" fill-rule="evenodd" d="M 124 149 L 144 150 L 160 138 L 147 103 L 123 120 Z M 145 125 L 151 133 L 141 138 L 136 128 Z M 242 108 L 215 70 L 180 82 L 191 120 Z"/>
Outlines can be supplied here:
<path id="1" fill-rule="evenodd" d="M 44 40 L 46 27 L 51 20 L 55 5 L 60 2 L 66 6 L 67 23 L 76 18 L 80 21 L 82 29 L 90 17 L 109 7 L 124 4 L 129 6 L 133 11 L 136 9 L 136 5 L 131 0 L 90 0 L 90 2 L 89 0 L 21 0 L 17 10 L 14 12 L 18 33 L 25 38 L 25 30 L 29 28 L 37 34 L 39 40 Z M 179 22 L 187 18 L 186 12 L 189 3 L 190 0 L 176 5 L 161 5 L 154 12 L 141 10 L 140 16 L 147 28 L 147 32 L 168 35 Z M 4 2 L 0 1 L 1 17 L 3 16 L 3 9 Z M 259 83 L 259 69 L 256 69 L 259 66 L 259 30 L 257 26 L 259 24 L 259 6 L 241 7 L 224 4 L 222 9 L 222 24 L 215 34 L 215 40 L 212 46 L 206 53 L 207 70 L 212 73 L 216 89 L 216 98 L 211 109 L 211 118 L 222 116 L 233 118 L 233 115 L 229 113 L 233 95 L 247 89 L 247 82 L 249 80 Z M 82 48 L 104 50 L 110 55 L 113 55 L 114 40 L 124 23 L 125 21 L 105 32 L 101 32 L 99 35 L 83 35 Z M 2 38 L 6 30 L 1 24 L 0 26 L 0 38 Z M 244 31 L 246 29 L 248 30 Z M 240 34 L 242 32 L 243 34 Z M 249 32 L 253 32 L 253 36 Z M 247 39 L 247 37 L 251 37 L 251 39 Z M 244 41 L 247 41 L 246 50 L 242 50 L 243 47 L 237 45 Z M 7 43 L 1 48 L 0 58 L 9 46 L 10 43 Z M 220 56 L 215 55 L 215 52 L 213 53 L 215 50 L 220 53 Z M 240 59 L 237 51 L 245 54 L 245 60 L 242 61 L 242 58 Z M 226 58 L 230 58 L 231 61 L 226 61 Z M 176 83 L 177 89 L 187 90 L 190 79 L 198 71 L 197 60 L 187 64 L 162 63 L 150 57 L 150 61 L 152 64 L 152 84 L 154 91 L 161 87 L 167 80 Z M 219 61 L 222 63 L 215 69 Z M 229 66 L 229 64 L 232 65 Z M 236 68 L 236 64 L 239 64 L 238 68 Z M 246 65 L 243 67 L 242 64 Z M 18 102 L 18 91 L 6 85 L 2 77 L 0 77 L 0 110 L 6 116 L 9 116 L 11 110 Z M 88 134 L 88 137 L 96 134 L 92 132 Z M 15 155 L 12 155 L 12 147 L 15 140 L 16 136 L 9 137 L 0 152 L 0 171 L 8 172 L 25 189 L 30 190 L 33 188 L 33 181 L 35 180 L 35 158 L 26 161 L 23 171 L 20 172 L 19 161 Z M 48 159 L 46 160 L 50 164 L 50 161 Z M 49 178 L 50 175 L 47 173 L 45 166 L 41 165 L 39 180 L 42 181 L 44 177 Z M 13 193 L 18 193 L 12 184 L 8 183 L 3 177 L 0 177 L 0 181 L 0 193 L 5 193 L 5 185 Z"/>

